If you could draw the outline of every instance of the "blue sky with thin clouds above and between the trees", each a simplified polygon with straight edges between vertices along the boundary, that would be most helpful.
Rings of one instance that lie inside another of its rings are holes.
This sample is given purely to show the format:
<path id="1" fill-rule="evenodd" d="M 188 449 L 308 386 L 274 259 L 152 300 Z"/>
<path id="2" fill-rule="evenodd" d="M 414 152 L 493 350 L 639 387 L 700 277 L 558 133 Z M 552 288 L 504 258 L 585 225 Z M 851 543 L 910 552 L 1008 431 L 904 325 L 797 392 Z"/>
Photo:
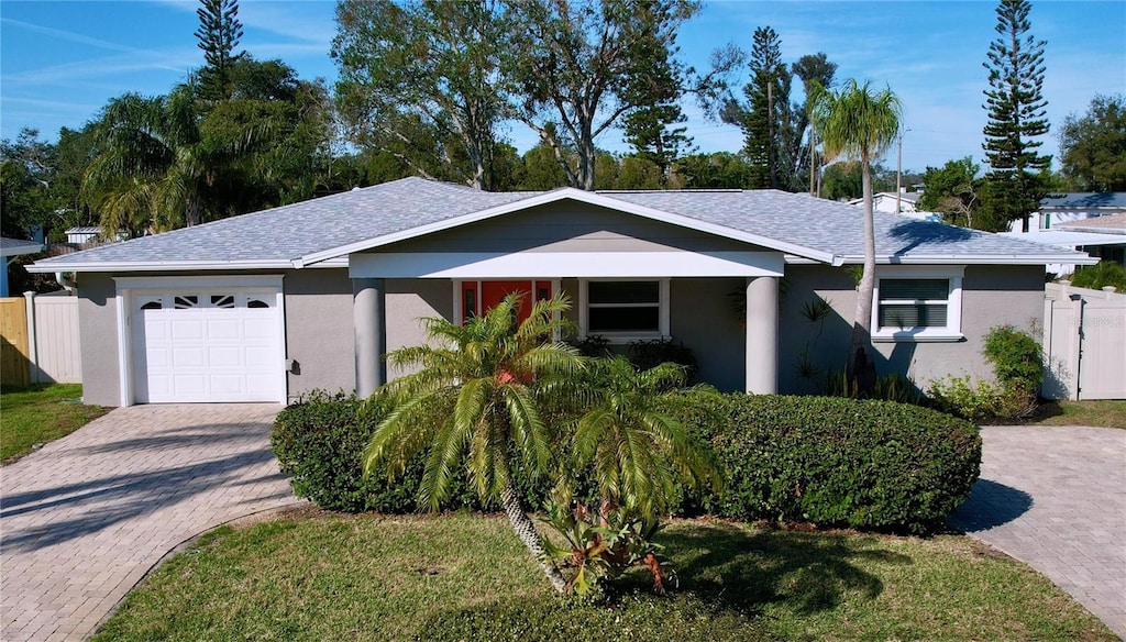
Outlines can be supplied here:
<path id="1" fill-rule="evenodd" d="M 203 64 L 193 1 L 43 1 L 0 3 L 0 135 L 35 127 L 55 139 L 78 128 L 126 91 L 158 95 Z M 334 2 L 241 0 L 242 48 L 280 57 L 303 78 L 336 79 L 329 48 Z M 825 52 L 838 79 L 888 84 L 903 101 L 904 169 L 922 170 L 973 155 L 981 161 L 985 113 L 985 52 L 995 36 L 995 2 L 709 2 L 681 29 L 685 59 L 704 68 L 711 51 L 734 42 L 749 50 L 756 27 L 771 26 L 793 62 Z M 1063 118 L 1087 109 L 1097 93 L 1126 93 L 1126 1 L 1033 2 L 1031 33 L 1047 41 L 1044 95 L 1053 132 L 1044 150 L 1057 153 Z M 742 87 L 745 73 L 735 79 Z M 738 128 L 709 122 L 688 106 L 689 134 L 700 151 L 738 151 Z M 512 126 L 521 151 L 535 143 Z M 622 151 L 620 136 L 599 144 Z M 894 164 L 895 159 L 887 159 Z"/>

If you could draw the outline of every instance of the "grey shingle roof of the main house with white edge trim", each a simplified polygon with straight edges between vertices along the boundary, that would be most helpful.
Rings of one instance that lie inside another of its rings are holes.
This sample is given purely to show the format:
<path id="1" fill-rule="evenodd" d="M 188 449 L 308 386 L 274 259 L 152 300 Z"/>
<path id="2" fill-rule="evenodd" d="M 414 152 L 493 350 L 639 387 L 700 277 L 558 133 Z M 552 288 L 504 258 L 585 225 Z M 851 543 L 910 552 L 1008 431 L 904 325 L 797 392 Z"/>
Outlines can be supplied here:
<path id="1" fill-rule="evenodd" d="M 829 262 L 863 258 L 856 208 L 778 190 L 489 193 L 404 178 L 45 259 L 34 271 L 302 267 L 554 200 L 586 200 Z M 1066 262 L 1085 256 L 942 223 L 876 213 L 890 262 Z"/>

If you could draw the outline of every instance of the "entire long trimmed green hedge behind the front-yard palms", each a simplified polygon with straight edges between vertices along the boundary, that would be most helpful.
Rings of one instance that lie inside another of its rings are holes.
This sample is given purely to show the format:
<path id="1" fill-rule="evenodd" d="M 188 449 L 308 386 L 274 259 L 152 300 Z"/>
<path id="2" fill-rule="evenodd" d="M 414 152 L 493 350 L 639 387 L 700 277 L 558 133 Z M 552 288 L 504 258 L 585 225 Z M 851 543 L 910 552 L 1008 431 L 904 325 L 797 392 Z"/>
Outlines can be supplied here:
<path id="1" fill-rule="evenodd" d="M 394 484 L 383 474 L 363 479 L 360 452 L 378 413 L 360 405 L 319 394 L 283 410 L 271 438 L 282 471 L 297 496 L 324 508 L 414 511 L 421 460 Z M 915 405 L 687 391 L 674 412 L 713 445 L 727 474 L 722 497 L 686 496 L 686 515 L 922 533 L 968 496 L 981 463 L 971 423 Z M 529 506 L 539 506 L 547 488 L 515 476 Z M 494 507 L 463 476 L 447 508 Z"/>

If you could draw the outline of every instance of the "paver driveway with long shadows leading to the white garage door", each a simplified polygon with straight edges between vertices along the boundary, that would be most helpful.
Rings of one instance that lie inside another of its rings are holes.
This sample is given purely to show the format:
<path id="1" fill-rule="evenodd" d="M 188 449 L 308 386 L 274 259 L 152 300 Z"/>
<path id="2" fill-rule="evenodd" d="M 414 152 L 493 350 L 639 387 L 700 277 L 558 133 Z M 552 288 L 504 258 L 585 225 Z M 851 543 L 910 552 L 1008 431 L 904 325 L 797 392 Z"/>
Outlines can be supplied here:
<path id="1" fill-rule="evenodd" d="M 278 410 L 123 408 L 0 469 L 0 640 L 84 640 L 185 540 L 296 501 Z"/>

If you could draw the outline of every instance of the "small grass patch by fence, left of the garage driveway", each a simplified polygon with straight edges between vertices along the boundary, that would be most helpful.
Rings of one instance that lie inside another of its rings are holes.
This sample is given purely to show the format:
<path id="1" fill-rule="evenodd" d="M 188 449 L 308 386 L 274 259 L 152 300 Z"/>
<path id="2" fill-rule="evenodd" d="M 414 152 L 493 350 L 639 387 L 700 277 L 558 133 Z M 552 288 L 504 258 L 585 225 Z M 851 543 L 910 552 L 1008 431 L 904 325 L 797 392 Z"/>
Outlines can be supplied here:
<path id="1" fill-rule="evenodd" d="M 81 384 L 36 384 L 0 390 L 0 463 L 30 453 L 36 444 L 65 437 L 109 412 L 81 403 Z"/>

